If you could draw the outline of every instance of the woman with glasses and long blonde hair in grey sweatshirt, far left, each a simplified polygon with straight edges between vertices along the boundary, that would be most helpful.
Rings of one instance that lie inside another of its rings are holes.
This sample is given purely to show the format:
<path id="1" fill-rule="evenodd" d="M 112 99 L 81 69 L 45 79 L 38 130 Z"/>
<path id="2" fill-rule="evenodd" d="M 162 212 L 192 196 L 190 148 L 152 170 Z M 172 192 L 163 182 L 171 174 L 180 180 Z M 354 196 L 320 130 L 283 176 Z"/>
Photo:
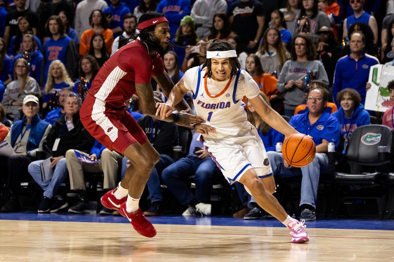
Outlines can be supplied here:
<path id="1" fill-rule="evenodd" d="M 20 108 L 28 94 L 40 95 L 40 87 L 34 78 L 29 76 L 28 62 L 19 58 L 14 63 L 15 80 L 5 88 L 2 104 L 7 107 L 7 118 L 14 121 L 20 119 Z"/>

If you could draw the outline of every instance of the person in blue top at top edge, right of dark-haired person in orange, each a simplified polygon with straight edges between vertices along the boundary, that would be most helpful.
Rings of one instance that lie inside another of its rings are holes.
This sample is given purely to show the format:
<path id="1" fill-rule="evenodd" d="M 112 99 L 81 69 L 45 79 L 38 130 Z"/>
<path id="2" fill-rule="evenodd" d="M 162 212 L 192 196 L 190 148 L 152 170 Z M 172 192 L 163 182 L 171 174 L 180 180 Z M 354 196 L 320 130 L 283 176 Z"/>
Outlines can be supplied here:
<path id="1" fill-rule="evenodd" d="M 112 30 L 114 38 L 122 34 L 123 28 L 123 16 L 127 13 L 131 13 L 129 7 L 127 7 L 121 0 L 111 0 L 111 5 L 102 10 L 108 21 L 109 29 Z"/>

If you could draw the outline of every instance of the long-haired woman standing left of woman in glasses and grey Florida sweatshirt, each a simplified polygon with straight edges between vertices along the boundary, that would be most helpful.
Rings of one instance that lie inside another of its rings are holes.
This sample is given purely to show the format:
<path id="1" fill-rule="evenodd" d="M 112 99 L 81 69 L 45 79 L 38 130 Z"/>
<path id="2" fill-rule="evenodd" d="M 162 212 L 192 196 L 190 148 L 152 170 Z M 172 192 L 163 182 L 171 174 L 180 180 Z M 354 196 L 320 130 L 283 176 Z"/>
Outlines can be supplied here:
<path id="1" fill-rule="evenodd" d="M 282 43 L 279 29 L 268 28 L 265 30 L 262 44 L 256 55 L 260 58 L 264 72 L 278 78 L 283 65 L 290 59 L 290 54 Z"/>

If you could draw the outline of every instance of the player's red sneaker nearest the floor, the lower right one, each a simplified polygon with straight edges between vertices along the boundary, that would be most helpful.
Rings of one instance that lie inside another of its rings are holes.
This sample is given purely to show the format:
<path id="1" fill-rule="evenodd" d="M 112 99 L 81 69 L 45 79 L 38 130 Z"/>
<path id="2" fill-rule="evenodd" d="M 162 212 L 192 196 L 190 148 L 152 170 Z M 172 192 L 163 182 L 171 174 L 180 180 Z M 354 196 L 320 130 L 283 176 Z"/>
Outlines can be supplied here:
<path id="1" fill-rule="evenodd" d="M 141 208 L 138 208 L 137 211 L 134 213 L 130 214 L 126 210 L 126 202 L 121 204 L 119 213 L 121 213 L 122 216 L 126 217 L 129 219 L 132 227 L 136 232 L 139 234 L 146 236 L 146 237 L 154 237 L 156 235 L 156 229 L 152 225 L 152 223 L 146 219 L 144 214 L 141 211 Z"/>

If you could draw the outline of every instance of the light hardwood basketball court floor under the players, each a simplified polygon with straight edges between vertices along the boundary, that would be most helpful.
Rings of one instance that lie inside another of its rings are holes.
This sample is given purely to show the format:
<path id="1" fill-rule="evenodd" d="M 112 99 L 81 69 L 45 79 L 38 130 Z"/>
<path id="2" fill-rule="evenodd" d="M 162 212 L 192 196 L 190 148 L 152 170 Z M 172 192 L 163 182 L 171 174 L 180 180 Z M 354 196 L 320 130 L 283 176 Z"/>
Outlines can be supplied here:
<path id="1" fill-rule="evenodd" d="M 310 242 L 292 244 L 279 222 L 275 227 L 198 224 L 155 224 L 157 236 L 146 238 L 123 222 L 0 220 L 0 261 L 394 261 L 392 230 L 307 228 Z"/>

